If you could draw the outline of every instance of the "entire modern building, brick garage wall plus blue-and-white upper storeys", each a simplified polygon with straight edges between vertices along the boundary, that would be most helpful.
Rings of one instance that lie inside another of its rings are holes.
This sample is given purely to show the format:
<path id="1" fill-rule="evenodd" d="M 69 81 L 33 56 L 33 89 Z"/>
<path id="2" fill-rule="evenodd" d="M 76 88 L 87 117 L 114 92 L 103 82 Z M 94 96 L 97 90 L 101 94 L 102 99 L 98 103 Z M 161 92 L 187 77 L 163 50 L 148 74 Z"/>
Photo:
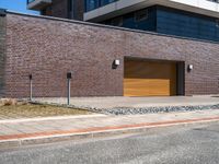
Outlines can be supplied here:
<path id="1" fill-rule="evenodd" d="M 55 15 L 54 1 L 28 2 L 30 9 L 49 5 Z M 219 94 L 218 2 L 87 0 L 84 5 L 84 21 L 1 12 L 0 96 L 27 97 L 30 74 L 34 97 L 66 96 L 70 71 L 71 96 Z M 59 17 L 70 17 L 65 8 Z"/>

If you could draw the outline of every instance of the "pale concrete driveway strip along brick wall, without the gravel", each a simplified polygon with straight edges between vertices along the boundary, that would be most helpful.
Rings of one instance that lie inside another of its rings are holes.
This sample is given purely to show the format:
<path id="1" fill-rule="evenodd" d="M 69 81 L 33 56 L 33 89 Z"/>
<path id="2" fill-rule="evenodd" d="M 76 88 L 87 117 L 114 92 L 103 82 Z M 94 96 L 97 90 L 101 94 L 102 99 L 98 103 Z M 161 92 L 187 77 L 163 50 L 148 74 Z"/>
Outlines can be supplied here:
<path id="1" fill-rule="evenodd" d="M 48 104 L 66 104 L 66 98 L 34 98 L 34 102 Z M 219 104 L 219 95 L 201 96 L 155 96 L 155 97 L 71 97 L 70 104 L 79 108 L 146 108 L 164 106 L 200 106 Z"/>

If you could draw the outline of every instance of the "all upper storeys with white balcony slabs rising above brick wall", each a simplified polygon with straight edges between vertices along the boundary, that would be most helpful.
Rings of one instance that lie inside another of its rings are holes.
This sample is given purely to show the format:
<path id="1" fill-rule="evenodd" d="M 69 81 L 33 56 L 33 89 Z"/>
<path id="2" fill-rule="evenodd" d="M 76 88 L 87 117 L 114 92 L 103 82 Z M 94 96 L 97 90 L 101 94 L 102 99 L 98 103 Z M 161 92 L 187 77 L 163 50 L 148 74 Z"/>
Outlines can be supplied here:
<path id="1" fill-rule="evenodd" d="M 84 17 L 89 22 L 219 42 L 218 0 L 30 0 L 28 9 L 46 15 Z"/>

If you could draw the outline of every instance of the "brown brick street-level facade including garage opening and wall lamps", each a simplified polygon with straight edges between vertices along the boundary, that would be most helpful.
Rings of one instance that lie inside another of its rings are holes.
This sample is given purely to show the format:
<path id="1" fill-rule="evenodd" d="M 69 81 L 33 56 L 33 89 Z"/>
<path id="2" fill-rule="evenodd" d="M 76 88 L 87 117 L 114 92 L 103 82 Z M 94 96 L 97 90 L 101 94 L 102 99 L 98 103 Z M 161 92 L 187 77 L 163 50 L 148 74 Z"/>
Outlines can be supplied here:
<path id="1" fill-rule="evenodd" d="M 0 16 L 1 96 L 170 96 L 219 93 L 219 44 L 88 22 Z M 5 46 L 2 46 L 5 45 Z M 4 67 L 2 67 L 4 66 Z"/>

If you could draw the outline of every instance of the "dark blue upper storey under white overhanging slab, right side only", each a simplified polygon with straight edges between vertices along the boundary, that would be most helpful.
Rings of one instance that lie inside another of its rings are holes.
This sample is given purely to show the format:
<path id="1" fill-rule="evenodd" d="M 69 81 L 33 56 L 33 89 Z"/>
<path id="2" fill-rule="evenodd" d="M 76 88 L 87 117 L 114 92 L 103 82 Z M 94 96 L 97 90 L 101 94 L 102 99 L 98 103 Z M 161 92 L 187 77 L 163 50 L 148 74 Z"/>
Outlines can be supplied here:
<path id="1" fill-rule="evenodd" d="M 85 21 L 219 42 L 217 0 L 119 0 L 96 9 L 88 2 L 87 11 Z"/>

